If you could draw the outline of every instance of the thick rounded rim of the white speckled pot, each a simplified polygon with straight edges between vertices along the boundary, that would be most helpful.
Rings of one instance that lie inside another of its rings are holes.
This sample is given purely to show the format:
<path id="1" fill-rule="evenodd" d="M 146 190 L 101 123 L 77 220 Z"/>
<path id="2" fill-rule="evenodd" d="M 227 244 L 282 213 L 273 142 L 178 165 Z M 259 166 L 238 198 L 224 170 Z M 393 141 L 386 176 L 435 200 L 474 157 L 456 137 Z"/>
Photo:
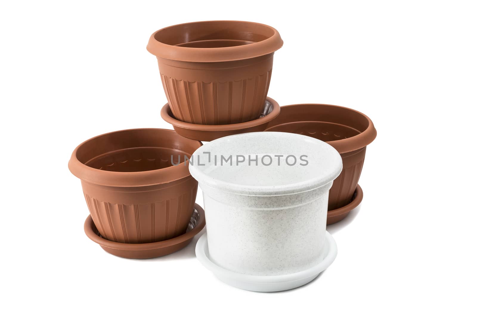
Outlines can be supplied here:
<path id="1" fill-rule="evenodd" d="M 273 195 L 291 195 L 301 192 L 311 191 L 322 186 L 330 184 L 334 179 L 340 175 L 342 171 L 342 158 L 341 155 L 329 144 L 309 136 L 297 134 L 297 133 L 282 133 L 282 132 L 257 132 L 257 133 L 240 133 L 236 135 L 226 136 L 213 140 L 207 144 L 198 148 L 193 157 L 197 157 L 197 154 L 204 152 L 213 152 L 215 149 L 220 149 L 221 143 L 227 142 L 239 142 L 240 139 L 247 139 L 250 135 L 259 136 L 259 134 L 267 134 L 268 136 L 276 136 L 286 142 L 302 142 L 308 143 L 311 147 L 315 147 L 316 151 L 323 152 L 327 156 L 325 164 L 327 165 L 328 173 L 326 174 L 314 174 L 309 179 L 290 183 L 286 185 L 241 185 L 231 183 L 228 181 L 214 178 L 205 173 L 202 169 L 199 169 L 197 165 L 189 164 L 190 174 L 199 182 L 203 183 L 211 188 L 238 194 L 238 195 L 252 195 L 252 196 L 273 196 Z M 196 162 L 196 161 L 194 161 Z"/>

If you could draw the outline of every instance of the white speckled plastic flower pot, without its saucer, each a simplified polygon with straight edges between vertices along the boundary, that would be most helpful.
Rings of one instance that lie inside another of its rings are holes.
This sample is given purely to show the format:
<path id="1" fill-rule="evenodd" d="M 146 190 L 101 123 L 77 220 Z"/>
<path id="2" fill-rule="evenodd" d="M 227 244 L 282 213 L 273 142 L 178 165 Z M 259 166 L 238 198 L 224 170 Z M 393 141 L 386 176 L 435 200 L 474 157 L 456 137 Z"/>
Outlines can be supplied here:
<path id="1" fill-rule="evenodd" d="M 257 276 L 316 266 L 341 170 L 332 146 L 293 133 L 244 133 L 198 148 L 189 171 L 204 193 L 210 261 Z"/>

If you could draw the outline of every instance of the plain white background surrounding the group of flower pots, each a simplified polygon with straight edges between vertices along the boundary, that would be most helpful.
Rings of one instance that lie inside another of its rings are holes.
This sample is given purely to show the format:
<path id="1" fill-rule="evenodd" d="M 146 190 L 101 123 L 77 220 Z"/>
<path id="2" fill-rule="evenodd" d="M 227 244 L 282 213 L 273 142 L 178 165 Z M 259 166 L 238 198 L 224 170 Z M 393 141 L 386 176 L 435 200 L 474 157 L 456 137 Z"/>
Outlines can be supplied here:
<path id="1" fill-rule="evenodd" d="M 475 2 L 393 2 L 2 1 L 1 316 L 475 317 Z M 145 46 L 202 20 L 275 27 L 270 97 L 351 107 L 377 128 L 363 203 L 328 227 L 338 256 L 304 287 L 244 291 L 202 267 L 195 242 L 139 261 L 83 233 L 71 152 L 100 133 L 171 128 Z"/>

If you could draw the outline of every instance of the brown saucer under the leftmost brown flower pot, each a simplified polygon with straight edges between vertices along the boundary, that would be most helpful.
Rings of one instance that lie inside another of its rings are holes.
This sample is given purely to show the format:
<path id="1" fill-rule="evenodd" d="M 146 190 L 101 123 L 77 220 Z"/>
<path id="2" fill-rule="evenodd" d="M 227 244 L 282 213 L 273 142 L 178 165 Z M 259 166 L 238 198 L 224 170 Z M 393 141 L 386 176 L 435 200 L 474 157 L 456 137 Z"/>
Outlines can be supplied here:
<path id="1" fill-rule="evenodd" d="M 187 226 L 187 232 L 174 238 L 154 243 L 128 244 L 118 243 L 104 239 L 94 226 L 91 215 L 84 221 L 84 233 L 93 241 L 98 243 L 103 249 L 115 256 L 125 258 L 153 258 L 177 252 L 186 247 L 194 236 L 206 225 L 204 209 L 197 203 L 194 205 L 194 212 Z"/>

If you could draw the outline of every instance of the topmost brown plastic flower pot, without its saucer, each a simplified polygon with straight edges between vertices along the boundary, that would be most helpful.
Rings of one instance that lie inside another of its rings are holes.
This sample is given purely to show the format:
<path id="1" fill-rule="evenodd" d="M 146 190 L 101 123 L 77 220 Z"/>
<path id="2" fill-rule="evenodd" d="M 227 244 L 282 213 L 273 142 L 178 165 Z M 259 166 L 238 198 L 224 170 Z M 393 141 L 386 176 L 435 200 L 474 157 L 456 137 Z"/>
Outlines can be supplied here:
<path id="1" fill-rule="evenodd" d="M 267 97 L 273 53 L 283 41 L 274 28 L 245 21 L 202 21 L 152 34 L 174 117 L 201 125 L 243 123 L 259 118 Z"/>

